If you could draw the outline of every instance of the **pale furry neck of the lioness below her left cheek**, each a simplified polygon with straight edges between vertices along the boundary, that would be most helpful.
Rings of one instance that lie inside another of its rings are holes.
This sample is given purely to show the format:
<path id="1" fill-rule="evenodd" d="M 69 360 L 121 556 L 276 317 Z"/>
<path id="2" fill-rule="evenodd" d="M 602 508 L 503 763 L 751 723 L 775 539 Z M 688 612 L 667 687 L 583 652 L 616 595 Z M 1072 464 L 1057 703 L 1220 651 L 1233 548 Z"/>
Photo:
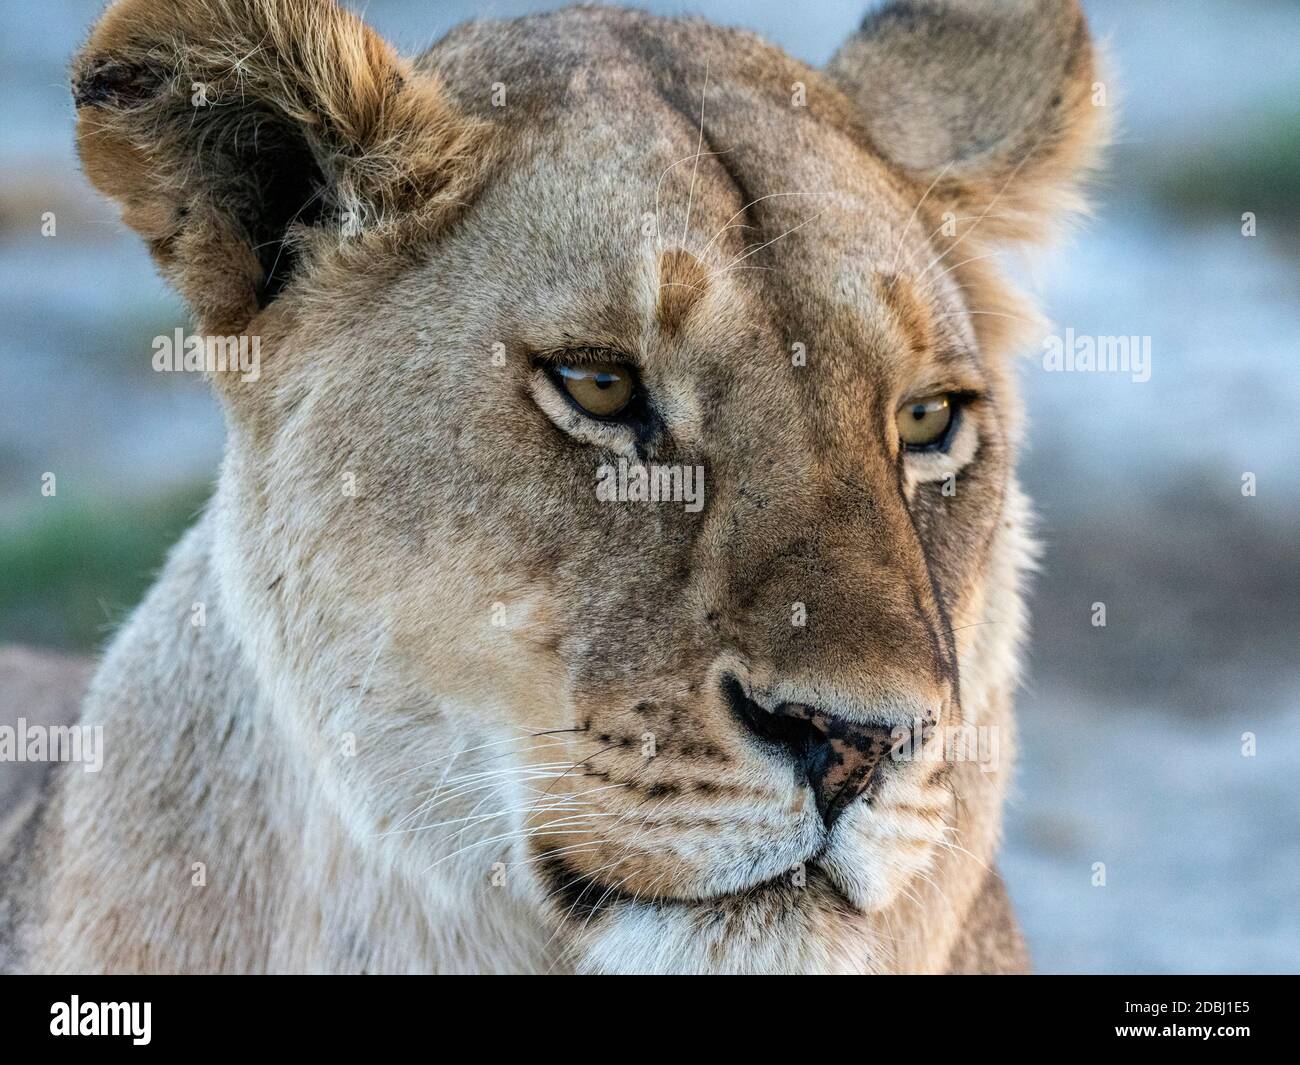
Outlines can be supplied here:
<path id="1" fill-rule="evenodd" d="M 526 908 L 412 875 L 346 823 L 222 616 L 208 537 L 176 549 L 92 685 L 104 767 L 65 772 L 46 818 L 31 967 L 547 967 Z"/>

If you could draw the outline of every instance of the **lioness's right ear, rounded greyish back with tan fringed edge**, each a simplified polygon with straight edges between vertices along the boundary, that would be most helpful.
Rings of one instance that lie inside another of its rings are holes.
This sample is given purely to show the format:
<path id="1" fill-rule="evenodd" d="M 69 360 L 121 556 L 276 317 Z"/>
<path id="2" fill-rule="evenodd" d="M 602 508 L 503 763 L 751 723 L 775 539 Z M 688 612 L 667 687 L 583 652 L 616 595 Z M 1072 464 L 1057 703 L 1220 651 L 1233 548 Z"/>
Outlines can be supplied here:
<path id="1" fill-rule="evenodd" d="M 828 73 L 875 147 L 984 234 L 1030 239 L 1080 204 L 1105 139 L 1078 0 L 893 0 Z"/>

